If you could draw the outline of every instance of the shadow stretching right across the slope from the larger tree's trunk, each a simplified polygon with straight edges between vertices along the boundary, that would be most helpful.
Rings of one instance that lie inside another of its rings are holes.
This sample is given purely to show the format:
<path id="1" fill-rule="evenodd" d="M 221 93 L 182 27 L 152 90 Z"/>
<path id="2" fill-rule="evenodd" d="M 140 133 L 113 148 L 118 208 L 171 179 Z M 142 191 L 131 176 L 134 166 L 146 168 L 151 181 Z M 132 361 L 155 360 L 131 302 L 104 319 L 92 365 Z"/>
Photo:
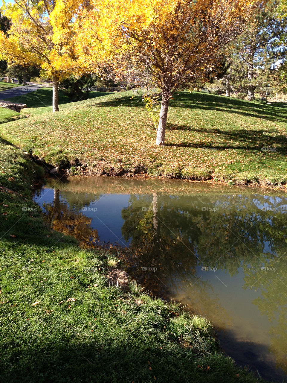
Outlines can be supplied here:
<path id="1" fill-rule="evenodd" d="M 201 128 L 192 128 L 188 125 L 175 125 L 168 124 L 168 130 L 182 130 L 182 131 L 190 131 L 192 133 L 202 133 L 206 134 L 207 132 L 210 134 L 217 134 L 214 136 L 214 142 L 209 144 L 209 147 L 215 148 L 217 150 L 225 150 L 225 149 L 248 149 L 261 151 L 262 147 L 270 147 L 276 148 L 276 153 L 286 154 L 287 149 L 287 136 L 284 134 L 277 134 L 276 136 L 272 136 L 272 134 L 276 133 L 276 129 L 272 129 L 266 133 L 264 129 L 253 129 L 253 130 L 245 130 L 238 129 L 236 131 L 226 131 L 222 129 L 201 129 Z M 220 140 L 228 140 L 228 142 L 222 144 L 222 142 L 217 143 L 218 138 Z M 240 142 L 240 144 L 232 145 L 232 142 Z M 177 146 L 177 147 L 194 147 L 194 148 L 202 148 L 206 147 L 206 144 L 196 144 L 192 142 L 179 142 L 179 143 L 166 143 L 166 146 Z M 273 152 L 268 149 L 263 152 Z"/>

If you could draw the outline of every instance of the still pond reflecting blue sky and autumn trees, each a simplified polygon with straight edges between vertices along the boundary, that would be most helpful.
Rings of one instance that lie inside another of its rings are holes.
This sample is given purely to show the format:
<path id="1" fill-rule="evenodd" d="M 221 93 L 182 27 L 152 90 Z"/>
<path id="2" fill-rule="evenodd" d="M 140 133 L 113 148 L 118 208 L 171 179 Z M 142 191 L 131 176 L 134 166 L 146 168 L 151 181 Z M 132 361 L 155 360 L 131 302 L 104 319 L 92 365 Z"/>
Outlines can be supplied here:
<path id="1" fill-rule="evenodd" d="M 287 381 L 287 195 L 181 180 L 49 180 L 34 200 L 82 247 L 118 247 L 153 295 L 212 321 L 223 349 Z"/>

